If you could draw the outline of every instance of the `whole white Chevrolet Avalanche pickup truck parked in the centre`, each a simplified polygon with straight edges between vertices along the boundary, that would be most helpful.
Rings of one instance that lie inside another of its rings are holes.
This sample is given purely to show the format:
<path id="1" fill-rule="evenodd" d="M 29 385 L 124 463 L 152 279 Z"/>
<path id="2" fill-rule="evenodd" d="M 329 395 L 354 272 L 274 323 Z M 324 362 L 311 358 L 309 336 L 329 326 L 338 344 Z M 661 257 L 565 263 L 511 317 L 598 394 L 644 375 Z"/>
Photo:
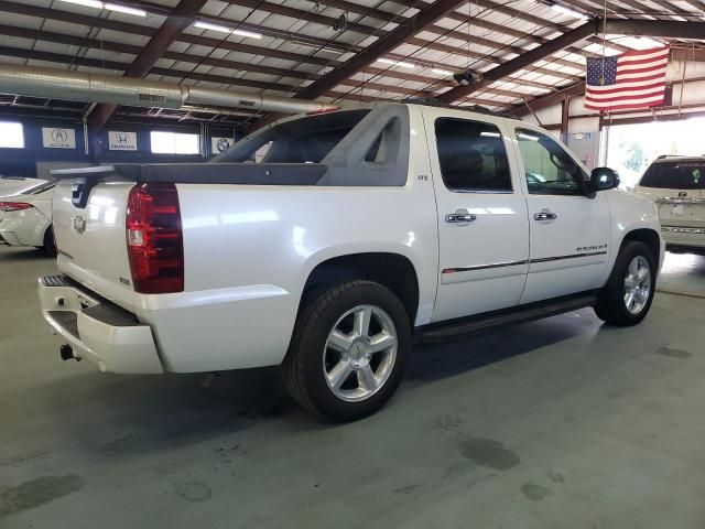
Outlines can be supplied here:
<path id="1" fill-rule="evenodd" d="M 584 306 L 649 311 L 653 203 L 544 130 L 381 104 L 272 123 L 206 164 L 59 171 L 61 274 L 39 281 L 63 358 L 101 371 L 281 365 L 305 408 L 379 409 L 414 341 Z"/>

